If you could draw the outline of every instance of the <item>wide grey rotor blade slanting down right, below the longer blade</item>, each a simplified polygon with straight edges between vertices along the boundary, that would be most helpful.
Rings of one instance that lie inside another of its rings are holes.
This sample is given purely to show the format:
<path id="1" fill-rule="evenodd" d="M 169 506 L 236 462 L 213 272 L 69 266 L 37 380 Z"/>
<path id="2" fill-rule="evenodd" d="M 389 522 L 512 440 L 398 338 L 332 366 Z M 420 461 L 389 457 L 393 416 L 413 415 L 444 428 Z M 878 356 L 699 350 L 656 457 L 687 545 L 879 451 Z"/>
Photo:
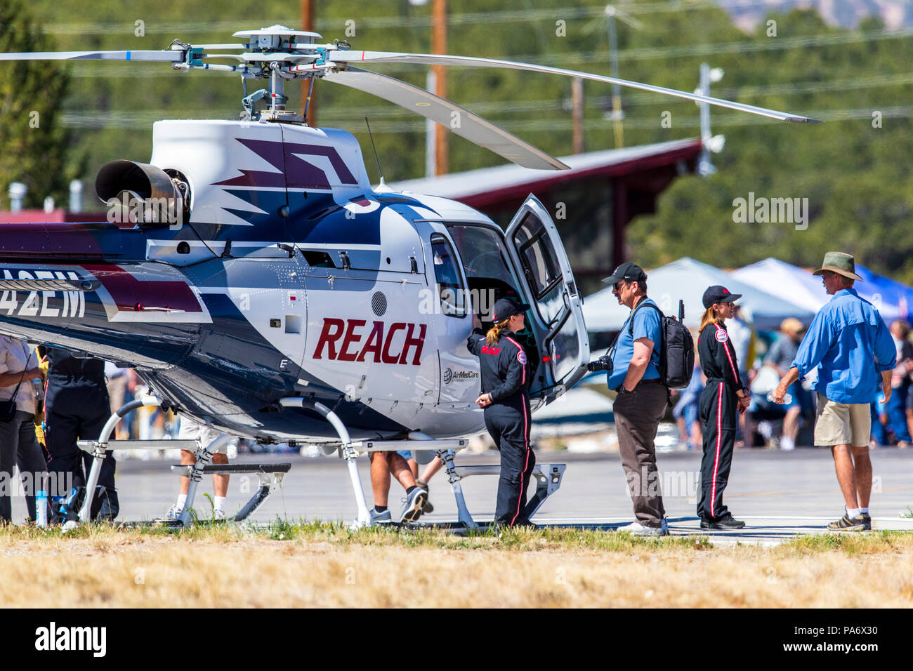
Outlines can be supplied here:
<path id="1" fill-rule="evenodd" d="M 570 170 L 570 166 L 561 163 L 554 156 L 542 152 L 529 142 L 520 140 L 516 135 L 496 126 L 491 121 L 482 119 L 455 102 L 440 98 L 434 93 L 399 79 L 352 68 L 352 66 L 335 71 L 330 70 L 323 79 L 371 93 L 406 110 L 421 114 L 426 119 L 437 121 L 469 142 L 485 147 L 524 168 Z"/>

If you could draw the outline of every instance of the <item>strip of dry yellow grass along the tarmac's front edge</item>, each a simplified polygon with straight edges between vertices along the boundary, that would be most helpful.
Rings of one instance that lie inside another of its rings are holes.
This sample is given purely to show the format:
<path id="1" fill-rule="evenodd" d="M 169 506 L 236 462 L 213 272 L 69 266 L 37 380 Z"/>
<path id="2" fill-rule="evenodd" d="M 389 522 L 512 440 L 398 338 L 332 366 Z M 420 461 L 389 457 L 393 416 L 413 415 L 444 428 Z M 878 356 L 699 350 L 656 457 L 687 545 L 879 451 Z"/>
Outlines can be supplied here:
<path id="1" fill-rule="evenodd" d="M 909 607 L 911 563 L 898 532 L 761 549 L 571 529 L 7 528 L 0 605 Z"/>

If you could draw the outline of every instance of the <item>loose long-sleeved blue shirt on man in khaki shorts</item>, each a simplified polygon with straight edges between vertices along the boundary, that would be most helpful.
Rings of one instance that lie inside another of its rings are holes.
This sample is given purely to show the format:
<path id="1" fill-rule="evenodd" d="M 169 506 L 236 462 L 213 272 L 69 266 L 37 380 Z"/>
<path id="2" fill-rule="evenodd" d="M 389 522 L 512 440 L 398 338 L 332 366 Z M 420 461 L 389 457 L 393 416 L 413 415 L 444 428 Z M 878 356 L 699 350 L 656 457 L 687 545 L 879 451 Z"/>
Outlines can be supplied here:
<path id="1" fill-rule="evenodd" d="M 842 404 L 875 401 L 880 373 L 896 364 L 885 322 L 853 288 L 840 289 L 818 310 L 792 362 L 800 380 L 817 368 L 814 389 Z"/>

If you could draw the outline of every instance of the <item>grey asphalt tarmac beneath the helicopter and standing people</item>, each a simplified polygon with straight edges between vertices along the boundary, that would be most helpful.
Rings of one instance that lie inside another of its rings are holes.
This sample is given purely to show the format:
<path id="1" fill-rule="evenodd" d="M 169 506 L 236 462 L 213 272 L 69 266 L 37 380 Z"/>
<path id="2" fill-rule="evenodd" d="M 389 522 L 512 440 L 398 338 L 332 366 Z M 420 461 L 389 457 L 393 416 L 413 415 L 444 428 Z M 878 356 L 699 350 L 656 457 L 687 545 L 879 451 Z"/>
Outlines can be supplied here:
<path id="1" fill-rule="evenodd" d="M 876 529 L 910 529 L 913 519 L 901 518 L 913 508 L 913 449 L 879 448 L 871 452 L 873 462 L 872 517 Z M 574 455 L 568 452 L 539 452 L 541 464 L 566 464 L 561 488 L 546 500 L 533 521 L 538 524 L 586 525 L 611 528 L 633 519 L 624 472 L 616 453 Z M 670 452 L 657 456 L 666 514 L 673 535 L 707 535 L 698 526 L 696 495 L 700 455 Z M 277 518 L 299 521 L 352 521 L 357 514 L 348 470 L 336 456 L 241 455 L 233 463 L 291 464 L 282 488 L 278 489 L 252 520 L 267 523 Z M 163 516 L 177 494 L 178 477 L 172 461 L 121 459 L 117 487 L 121 499 L 120 519 L 150 520 Z M 176 463 L 176 462 L 174 462 Z M 498 464 L 498 453 L 456 456 L 457 465 Z M 358 460 L 365 497 L 372 503 L 368 460 Z M 229 514 L 257 489 L 256 475 L 231 477 L 228 489 Z M 497 476 L 473 476 L 462 480 L 467 507 L 477 521 L 494 515 Z M 390 508 L 397 519 L 404 496 L 398 483 L 391 487 Z M 530 488 L 530 493 L 532 489 Z M 198 489 L 194 508 L 201 519 L 209 515 L 205 493 L 212 494 L 212 480 L 205 477 Z M 456 503 L 443 470 L 431 481 L 433 514 L 422 521 L 456 520 Z M 729 487 L 724 502 L 739 519 L 747 522 L 740 531 L 712 531 L 715 543 L 760 542 L 771 544 L 797 534 L 821 532 L 829 520 L 843 514 L 843 498 L 837 487 L 829 450 L 799 448 L 793 452 L 770 449 L 740 449 L 733 456 Z M 14 499 L 14 519 L 25 516 L 21 498 Z"/>

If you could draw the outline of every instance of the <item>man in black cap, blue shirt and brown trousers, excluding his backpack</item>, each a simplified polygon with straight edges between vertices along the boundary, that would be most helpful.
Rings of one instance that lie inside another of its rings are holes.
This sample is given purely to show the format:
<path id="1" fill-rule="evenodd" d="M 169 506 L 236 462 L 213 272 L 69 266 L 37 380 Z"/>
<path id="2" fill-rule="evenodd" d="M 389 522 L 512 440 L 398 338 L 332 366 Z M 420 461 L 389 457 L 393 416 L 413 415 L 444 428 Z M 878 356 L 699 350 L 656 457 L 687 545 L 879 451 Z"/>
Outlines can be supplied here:
<path id="1" fill-rule="evenodd" d="M 669 399 L 669 391 L 659 382 L 659 307 L 646 298 L 646 273 L 633 263 L 615 268 L 603 282 L 613 286 L 619 304 L 631 309 L 609 352 L 612 370 L 608 385 L 618 392 L 613 409 L 618 452 L 636 518 L 619 530 L 638 536 L 665 536 L 666 508 L 654 446 L 656 427 Z"/>

